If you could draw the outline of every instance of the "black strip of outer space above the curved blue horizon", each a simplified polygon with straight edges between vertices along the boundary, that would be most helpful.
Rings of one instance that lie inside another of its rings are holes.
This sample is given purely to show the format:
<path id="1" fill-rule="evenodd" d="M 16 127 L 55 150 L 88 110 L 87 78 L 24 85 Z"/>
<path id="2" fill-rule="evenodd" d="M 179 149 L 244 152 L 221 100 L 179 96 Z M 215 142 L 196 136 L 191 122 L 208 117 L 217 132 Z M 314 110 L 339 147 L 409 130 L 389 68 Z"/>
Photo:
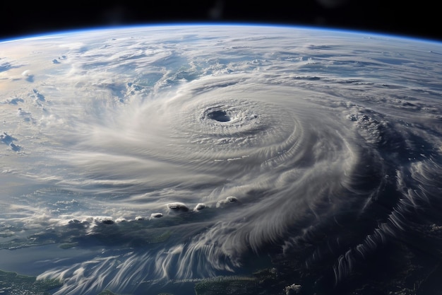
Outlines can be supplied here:
<path id="1" fill-rule="evenodd" d="M 437 2 L 393 0 L 11 1 L 0 40 L 59 30 L 155 23 L 309 25 L 442 40 Z"/>

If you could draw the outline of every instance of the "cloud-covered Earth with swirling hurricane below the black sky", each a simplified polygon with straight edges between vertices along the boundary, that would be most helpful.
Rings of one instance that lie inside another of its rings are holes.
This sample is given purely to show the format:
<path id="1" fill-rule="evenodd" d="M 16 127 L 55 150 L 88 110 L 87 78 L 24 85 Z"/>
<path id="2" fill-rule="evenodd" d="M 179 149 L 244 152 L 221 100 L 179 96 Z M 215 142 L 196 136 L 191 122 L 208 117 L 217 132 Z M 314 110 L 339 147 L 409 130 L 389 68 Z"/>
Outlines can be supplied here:
<path id="1" fill-rule="evenodd" d="M 442 294 L 441 54 L 271 25 L 0 42 L 0 293 Z"/>

